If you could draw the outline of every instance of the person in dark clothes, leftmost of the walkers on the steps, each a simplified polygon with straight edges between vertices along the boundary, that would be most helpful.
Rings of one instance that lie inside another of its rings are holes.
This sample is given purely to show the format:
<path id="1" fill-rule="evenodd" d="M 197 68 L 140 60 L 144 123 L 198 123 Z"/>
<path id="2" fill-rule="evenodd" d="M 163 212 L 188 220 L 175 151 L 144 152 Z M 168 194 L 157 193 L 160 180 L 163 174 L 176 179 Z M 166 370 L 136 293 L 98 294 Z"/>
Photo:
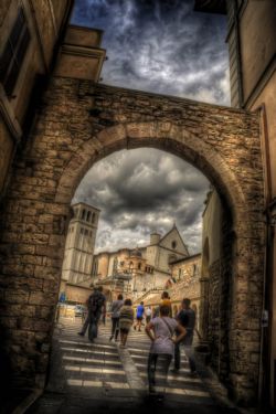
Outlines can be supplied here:
<path id="1" fill-rule="evenodd" d="M 103 287 L 98 286 L 94 289 L 87 300 L 88 316 L 83 325 L 83 329 L 78 335 L 84 336 L 88 327 L 88 339 L 91 342 L 97 338 L 98 335 L 98 321 L 100 319 L 102 311 L 106 314 L 106 298 L 103 294 Z"/>

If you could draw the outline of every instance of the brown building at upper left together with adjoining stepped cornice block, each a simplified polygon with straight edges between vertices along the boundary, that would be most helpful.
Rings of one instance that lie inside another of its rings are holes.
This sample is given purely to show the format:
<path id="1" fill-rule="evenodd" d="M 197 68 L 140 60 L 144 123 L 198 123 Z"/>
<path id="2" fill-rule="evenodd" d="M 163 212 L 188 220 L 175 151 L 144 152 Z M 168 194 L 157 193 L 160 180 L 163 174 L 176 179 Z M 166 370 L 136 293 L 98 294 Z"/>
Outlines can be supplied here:
<path id="1" fill-rule="evenodd" d="M 53 71 L 56 76 L 99 78 L 105 59 L 102 31 L 67 26 L 73 3 L 1 1 L 0 198 L 8 185 L 12 160 L 26 145 L 34 108 Z"/>

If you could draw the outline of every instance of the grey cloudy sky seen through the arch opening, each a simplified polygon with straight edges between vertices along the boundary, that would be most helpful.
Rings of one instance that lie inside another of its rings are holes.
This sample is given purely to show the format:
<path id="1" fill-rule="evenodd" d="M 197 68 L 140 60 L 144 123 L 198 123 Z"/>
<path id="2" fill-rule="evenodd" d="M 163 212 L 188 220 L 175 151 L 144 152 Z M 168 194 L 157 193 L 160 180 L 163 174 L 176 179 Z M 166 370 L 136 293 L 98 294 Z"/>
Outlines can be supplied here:
<path id="1" fill-rule="evenodd" d="M 177 223 L 191 252 L 201 248 L 208 180 L 178 157 L 155 149 L 116 152 L 96 163 L 73 202 L 102 210 L 97 248 L 146 245 Z"/>

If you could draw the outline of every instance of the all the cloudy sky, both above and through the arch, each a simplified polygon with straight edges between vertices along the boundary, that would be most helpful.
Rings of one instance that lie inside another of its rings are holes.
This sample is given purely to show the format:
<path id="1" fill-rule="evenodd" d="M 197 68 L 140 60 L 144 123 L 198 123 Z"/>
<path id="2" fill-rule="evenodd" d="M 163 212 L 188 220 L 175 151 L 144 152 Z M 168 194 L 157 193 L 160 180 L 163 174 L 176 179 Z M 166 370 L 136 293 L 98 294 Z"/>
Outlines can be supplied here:
<path id="1" fill-rule="evenodd" d="M 75 0 L 72 23 L 104 30 L 103 83 L 230 105 L 225 18 L 193 12 L 193 0 Z M 98 251 L 145 245 L 176 221 L 194 253 L 208 189 L 177 157 L 137 149 L 95 164 L 73 202 L 102 209 Z"/>

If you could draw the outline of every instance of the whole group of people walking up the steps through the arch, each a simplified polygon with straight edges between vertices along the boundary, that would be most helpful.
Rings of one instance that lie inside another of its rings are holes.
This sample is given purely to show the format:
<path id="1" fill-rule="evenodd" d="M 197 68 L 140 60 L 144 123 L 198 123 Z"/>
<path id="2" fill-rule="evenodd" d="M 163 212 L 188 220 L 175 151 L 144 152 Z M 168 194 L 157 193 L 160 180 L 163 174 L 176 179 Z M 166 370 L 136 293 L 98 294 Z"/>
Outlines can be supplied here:
<path id="1" fill-rule="evenodd" d="M 182 346 L 189 361 L 191 375 L 197 375 L 197 365 L 193 355 L 193 331 L 195 328 L 195 312 L 190 307 L 191 300 L 184 298 L 181 302 L 181 309 L 172 318 L 171 300 L 167 291 L 161 296 L 161 302 L 152 312 L 150 307 L 145 309 L 144 302 L 137 307 L 136 323 L 134 325 L 134 309 L 130 299 L 123 298 L 118 295 L 110 308 L 112 316 L 112 335 L 109 341 L 118 341 L 120 337 L 120 348 L 126 347 L 127 337 L 131 326 L 134 329 L 141 331 L 144 316 L 146 316 L 145 331 L 149 337 L 151 344 L 148 358 L 148 383 L 149 393 L 156 393 L 158 389 L 166 389 L 167 376 L 170 363 L 173 359 L 174 367 L 171 370 L 178 374 L 181 367 L 180 347 Z M 103 287 L 94 289 L 87 299 L 87 317 L 78 335 L 84 336 L 88 329 L 88 339 L 93 342 L 97 337 L 98 322 L 103 315 L 106 315 L 106 298 L 103 294 Z M 159 397 L 162 397 L 160 393 Z"/>

